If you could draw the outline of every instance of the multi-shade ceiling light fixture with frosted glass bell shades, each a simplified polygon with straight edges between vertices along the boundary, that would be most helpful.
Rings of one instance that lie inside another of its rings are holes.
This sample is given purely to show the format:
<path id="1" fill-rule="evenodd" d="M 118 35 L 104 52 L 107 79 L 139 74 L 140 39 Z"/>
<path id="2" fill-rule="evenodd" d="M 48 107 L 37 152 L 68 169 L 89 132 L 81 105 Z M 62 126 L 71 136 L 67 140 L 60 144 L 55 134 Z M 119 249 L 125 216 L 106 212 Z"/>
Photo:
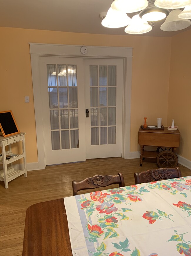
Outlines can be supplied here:
<path id="1" fill-rule="evenodd" d="M 177 8 L 184 7 L 183 11 L 174 12 Z M 169 9 L 175 10 L 170 12 Z M 139 12 L 139 14 L 136 13 L 130 20 L 127 14 L 132 12 Z M 114 0 L 106 17 L 100 16 L 104 18 L 101 22 L 104 27 L 117 28 L 129 24 L 125 28 L 128 34 L 147 33 L 154 26 L 153 22 L 165 17 L 167 18 L 161 25 L 161 30 L 177 31 L 190 26 L 191 0 Z"/>

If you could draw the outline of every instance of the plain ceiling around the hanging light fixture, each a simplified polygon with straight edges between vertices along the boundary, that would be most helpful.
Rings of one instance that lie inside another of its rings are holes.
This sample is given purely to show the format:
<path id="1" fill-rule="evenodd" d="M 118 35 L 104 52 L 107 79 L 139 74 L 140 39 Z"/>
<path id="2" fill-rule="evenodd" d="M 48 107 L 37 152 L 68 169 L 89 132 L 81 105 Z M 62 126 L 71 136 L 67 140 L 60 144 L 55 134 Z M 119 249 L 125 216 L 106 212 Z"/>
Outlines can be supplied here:
<path id="1" fill-rule="evenodd" d="M 107 12 L 113 0 L 0 0 L 0 27 L 16 27 L 65 32 L 129 35 L 123 28 L 101 25 L 100 12 Z M 134 14 L 129 14 L 131 18 Z M 164 22 L 155 22 L 153 29 L 137 36 L 173 36 L 185 30 L 165 32 Z"/>

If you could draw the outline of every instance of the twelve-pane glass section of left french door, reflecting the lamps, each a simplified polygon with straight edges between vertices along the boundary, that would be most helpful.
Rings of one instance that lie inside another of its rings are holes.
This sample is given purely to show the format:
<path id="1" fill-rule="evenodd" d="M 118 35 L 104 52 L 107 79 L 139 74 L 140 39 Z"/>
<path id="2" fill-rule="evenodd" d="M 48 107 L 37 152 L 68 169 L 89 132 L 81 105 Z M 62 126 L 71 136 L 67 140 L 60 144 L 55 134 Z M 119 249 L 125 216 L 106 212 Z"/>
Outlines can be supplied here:
<path id="1" fill-rule="evenodd" d="M 79 147 L 76 65 L 47 64 L 52 150 Z"/>

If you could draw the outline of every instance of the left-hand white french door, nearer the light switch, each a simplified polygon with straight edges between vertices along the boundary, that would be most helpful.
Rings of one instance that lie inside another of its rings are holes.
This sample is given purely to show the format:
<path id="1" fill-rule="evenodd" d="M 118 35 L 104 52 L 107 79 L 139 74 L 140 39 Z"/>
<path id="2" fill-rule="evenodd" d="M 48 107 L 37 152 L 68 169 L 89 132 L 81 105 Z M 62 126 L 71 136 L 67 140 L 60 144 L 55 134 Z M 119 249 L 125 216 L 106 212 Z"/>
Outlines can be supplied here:
<path id="1" fill-rule="evenodd" d="M 46 165 L 86 160 L 83 59 L 40 57 Z"/>

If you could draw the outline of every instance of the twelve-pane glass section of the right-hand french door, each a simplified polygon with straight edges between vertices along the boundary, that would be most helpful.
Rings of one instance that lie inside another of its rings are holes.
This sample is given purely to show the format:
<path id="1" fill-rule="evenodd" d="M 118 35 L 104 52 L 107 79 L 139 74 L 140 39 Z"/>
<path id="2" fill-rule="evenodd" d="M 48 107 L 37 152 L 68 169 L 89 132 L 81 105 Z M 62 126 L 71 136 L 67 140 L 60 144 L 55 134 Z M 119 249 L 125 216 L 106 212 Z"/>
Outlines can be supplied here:
<path id="1" fill-rule="evenodd" d="M 116 66 L 90 66 L 91 145 L 115 144 Z"/>

